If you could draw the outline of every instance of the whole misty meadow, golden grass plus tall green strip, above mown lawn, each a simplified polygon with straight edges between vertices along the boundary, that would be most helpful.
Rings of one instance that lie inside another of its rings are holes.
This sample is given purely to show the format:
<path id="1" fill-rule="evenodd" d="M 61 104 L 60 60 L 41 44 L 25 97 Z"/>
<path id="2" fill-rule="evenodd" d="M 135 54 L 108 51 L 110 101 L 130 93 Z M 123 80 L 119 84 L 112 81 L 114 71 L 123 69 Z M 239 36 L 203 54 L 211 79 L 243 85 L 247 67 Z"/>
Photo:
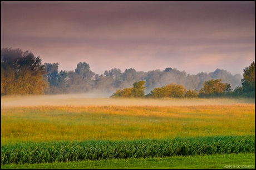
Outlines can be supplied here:
<path id="1" fill-rule="evenodd" d="M 61 146 L 67 148 L 60 152 Z M 255 99 L 46 96 L 1 101 L 1 167 L 220 153 L 255 153 Z"/>

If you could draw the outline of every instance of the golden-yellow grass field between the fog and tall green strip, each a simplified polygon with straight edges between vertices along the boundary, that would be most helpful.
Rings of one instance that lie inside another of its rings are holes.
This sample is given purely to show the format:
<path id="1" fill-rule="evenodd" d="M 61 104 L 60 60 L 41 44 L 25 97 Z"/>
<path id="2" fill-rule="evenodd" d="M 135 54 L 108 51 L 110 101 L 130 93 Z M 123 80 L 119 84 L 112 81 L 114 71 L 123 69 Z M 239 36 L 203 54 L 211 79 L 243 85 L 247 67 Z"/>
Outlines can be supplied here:
<path id="1" fill-rule="evenodd" d="M 255 104 L 2 107 L 1 143 L 255 134 Z"/>

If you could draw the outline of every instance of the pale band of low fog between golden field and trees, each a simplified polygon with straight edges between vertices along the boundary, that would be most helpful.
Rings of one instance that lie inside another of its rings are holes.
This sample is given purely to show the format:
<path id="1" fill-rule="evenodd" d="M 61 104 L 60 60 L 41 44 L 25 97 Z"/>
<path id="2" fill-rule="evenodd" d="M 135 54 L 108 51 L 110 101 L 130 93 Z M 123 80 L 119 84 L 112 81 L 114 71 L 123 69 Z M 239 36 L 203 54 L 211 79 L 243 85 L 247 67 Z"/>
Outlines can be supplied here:
<path id="1" fill-rule="evenodd" d="M 66 94 L 1 97 L 3 106 L 193 106 L 255 104 L 255 99 L 110 99 L 111 94 Z"/>

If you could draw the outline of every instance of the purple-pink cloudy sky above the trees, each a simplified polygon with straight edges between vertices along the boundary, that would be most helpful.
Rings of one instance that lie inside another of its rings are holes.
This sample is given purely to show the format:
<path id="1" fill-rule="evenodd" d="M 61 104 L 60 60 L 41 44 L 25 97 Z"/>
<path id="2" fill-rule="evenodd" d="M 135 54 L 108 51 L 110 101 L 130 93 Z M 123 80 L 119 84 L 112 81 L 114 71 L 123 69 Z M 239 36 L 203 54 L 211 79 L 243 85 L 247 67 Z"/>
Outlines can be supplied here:
<path id="1" fill-rule="evenodd" d="M 96 74 L 217 68 L 243 75 L 255 61 L 255 2 L 4 2 L 1 49 L 29 50 L 58 70 Z"/>

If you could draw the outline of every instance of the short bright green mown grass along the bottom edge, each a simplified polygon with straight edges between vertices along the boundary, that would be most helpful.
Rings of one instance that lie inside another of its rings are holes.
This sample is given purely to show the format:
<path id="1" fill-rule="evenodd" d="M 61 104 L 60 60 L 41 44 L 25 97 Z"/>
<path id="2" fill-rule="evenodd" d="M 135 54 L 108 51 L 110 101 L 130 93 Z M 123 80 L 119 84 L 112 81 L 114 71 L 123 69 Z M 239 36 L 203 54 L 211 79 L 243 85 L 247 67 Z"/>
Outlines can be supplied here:
<path id="1" fill-rule="evenodd" d="M 254 169 L 255 153 L 6 164 L 1 169 Z"/>

